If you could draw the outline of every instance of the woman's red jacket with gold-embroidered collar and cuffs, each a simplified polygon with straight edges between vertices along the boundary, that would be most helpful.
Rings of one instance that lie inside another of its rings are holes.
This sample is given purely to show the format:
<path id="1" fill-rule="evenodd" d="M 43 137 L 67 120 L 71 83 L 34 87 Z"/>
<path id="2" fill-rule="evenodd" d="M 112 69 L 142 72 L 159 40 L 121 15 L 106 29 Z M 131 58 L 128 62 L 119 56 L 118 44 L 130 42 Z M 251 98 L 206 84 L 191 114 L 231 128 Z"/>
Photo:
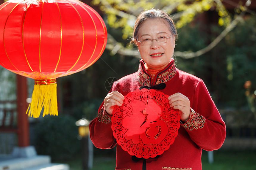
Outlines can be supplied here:
<path id="1" fill-rule="evenodd" d="M 188 121 L 181 122 L 174 143 L 159 157 L 133 161 L 132 156 L 124 151 L 113 137 L 111 117 L 104 110 L 104 102 L 99 108 L 98 117 L 90 123 L 90 138 L 97 148 L 109 149 L 117 144 L 116 170 L 202 170 L 202 149 L 217 150 L 224 142 L 225 123 L 204 82 L 177 69 L 173 59 L 166 68 L 156 74 L 153 82 L 141 60 L 138 72 L 116 81 L 110 92 L 117 90 L 125 96 L 141 86 L 159 83 L 165 83 L 166 88 L 157 91 L 168 96 L 179 92 L 191 102 Z"/>

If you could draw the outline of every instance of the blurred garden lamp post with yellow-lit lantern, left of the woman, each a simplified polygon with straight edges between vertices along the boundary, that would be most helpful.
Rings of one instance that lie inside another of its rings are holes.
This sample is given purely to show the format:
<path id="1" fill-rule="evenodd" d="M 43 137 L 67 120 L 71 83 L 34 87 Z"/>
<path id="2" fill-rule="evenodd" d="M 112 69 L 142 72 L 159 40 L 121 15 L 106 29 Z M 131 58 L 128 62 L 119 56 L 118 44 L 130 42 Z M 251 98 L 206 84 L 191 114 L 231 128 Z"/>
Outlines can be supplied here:
<path id="1" fill-rule="evenodd" d="M 76 122 L 78 126 L 78 139 L 82 143 L 82 170 L 92 169 L 93 167 L 93 144 L 89 136 L 89 121 L 82 118 Z"/>

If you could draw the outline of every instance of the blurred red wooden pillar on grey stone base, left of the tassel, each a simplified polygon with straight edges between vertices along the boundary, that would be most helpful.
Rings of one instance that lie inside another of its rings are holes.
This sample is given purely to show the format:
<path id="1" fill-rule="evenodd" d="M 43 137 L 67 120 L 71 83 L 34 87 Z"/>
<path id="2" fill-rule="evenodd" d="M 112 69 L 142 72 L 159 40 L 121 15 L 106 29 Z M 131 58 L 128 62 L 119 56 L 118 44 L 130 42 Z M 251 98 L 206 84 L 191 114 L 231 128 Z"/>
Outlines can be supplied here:
<path id="1" fill-rule="evenodd" d="M 27 80 L 26 77 L 16 76 L 17 83 L 17 117 L 18 117 L 18 146 L 29 146 L 29 121 L 26 110 L 28 108 L 26 103 L 27 98 Z"/>

